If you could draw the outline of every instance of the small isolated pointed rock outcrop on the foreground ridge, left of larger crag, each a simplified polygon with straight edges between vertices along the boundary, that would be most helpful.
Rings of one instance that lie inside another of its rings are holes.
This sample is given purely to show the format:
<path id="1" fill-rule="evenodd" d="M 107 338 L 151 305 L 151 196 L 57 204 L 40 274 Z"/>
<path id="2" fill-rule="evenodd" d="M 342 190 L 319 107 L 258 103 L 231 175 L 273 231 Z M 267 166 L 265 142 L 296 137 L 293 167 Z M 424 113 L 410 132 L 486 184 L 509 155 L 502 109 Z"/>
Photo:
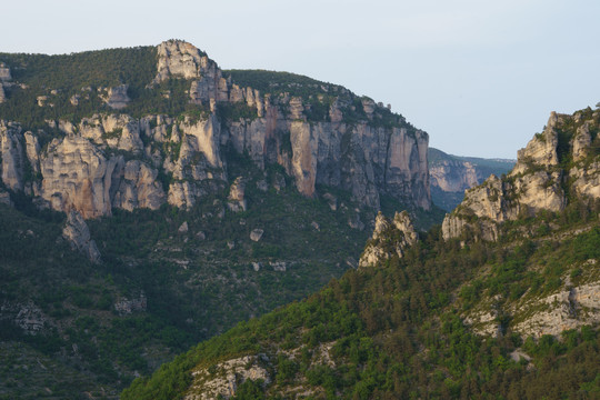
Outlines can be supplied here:
<path id="1" fill-rule="evenodd" d="M 391 258 L 402 258 L 406 249 L 414 244 L 418 234 L 407 211 L 397 212 L 392 221 L 379 212 L 376 218 L 373 236 L 367 243 L 359 267 L 373 267 Z"/>

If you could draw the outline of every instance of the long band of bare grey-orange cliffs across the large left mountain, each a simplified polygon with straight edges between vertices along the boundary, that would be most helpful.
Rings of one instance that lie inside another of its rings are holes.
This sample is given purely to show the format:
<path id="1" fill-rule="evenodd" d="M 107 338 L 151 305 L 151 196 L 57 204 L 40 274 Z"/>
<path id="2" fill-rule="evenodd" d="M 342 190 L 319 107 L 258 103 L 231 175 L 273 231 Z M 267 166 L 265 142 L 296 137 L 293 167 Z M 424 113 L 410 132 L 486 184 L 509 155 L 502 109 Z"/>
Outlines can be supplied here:
<path id="1" fill-rule="evenodd" d="M 326 88 L 336 93 L 327 101 L 263 94 L 224 78 L 214 61 L 182 41 L 158 47 L 157 76 L 149 88 L 159 90 L 169 79 L 188 80 L 197 114 L 104 113 L 49 121 L 63 136 L 54 134 L 43 147 L 39 138 L 47 132 L 23 132 L 19 123 L 1 121 L 3 183 L 86 219 L 109 216 L 114 207 L 157 209 L 168 202 L 190 209 L 231 183 L 228 207 L 246 210 L 242 181 L 230 182 L 227 176 L 227 148 L 248 154 L 260 169 L 281 166 L 307 197 L 326 186 L 347 190 L 374 209 L 381 194 L 409 207 L 430 207 L 428 134 L 368 98 L 333 86 Z M 127 83 L 110 88 L 103 100 L 122 109 L 127 90 Z M 320 120 L 310 117 L 314 101 L 323 101 L 317 104 L 326 111 Z M 240 109 L 246 117 L 226 112 Z M 374 123 L 382 118 L 391 122 Z M 279 191 L 286 178 L 276 173 L 269 183 Z"/>

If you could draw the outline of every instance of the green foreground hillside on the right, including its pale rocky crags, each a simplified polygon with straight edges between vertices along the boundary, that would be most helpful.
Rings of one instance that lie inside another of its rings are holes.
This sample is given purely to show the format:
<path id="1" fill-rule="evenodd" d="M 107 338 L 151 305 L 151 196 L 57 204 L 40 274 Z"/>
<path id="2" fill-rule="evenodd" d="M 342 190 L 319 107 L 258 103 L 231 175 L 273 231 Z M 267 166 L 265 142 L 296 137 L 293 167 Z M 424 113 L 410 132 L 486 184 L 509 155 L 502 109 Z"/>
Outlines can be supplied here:
<path id="1" fill-rule="evenodd" d="M 199 343 L 122 399 L 598 398 L 599 116 L 552 114 L 441 229 L 379 214 L 358 270 Z M 490 204 L 503 219 L 478 214 Z"/>

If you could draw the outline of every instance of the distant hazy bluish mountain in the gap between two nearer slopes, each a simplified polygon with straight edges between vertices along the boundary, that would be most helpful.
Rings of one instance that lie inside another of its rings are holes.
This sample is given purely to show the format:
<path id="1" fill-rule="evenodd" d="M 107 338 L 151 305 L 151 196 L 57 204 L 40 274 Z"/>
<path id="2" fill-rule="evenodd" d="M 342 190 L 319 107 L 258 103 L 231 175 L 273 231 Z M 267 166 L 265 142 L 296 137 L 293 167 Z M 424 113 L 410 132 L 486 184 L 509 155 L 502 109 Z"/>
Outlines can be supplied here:
<path id="1" fill-rule="evenodd" d="M 467 189 L 514 167 L 514 160 L 452 156 L 434 148 L 429 148 L 428 162 L 431 200 L 446 211 L 452 211 L 462 201 Z"/>

